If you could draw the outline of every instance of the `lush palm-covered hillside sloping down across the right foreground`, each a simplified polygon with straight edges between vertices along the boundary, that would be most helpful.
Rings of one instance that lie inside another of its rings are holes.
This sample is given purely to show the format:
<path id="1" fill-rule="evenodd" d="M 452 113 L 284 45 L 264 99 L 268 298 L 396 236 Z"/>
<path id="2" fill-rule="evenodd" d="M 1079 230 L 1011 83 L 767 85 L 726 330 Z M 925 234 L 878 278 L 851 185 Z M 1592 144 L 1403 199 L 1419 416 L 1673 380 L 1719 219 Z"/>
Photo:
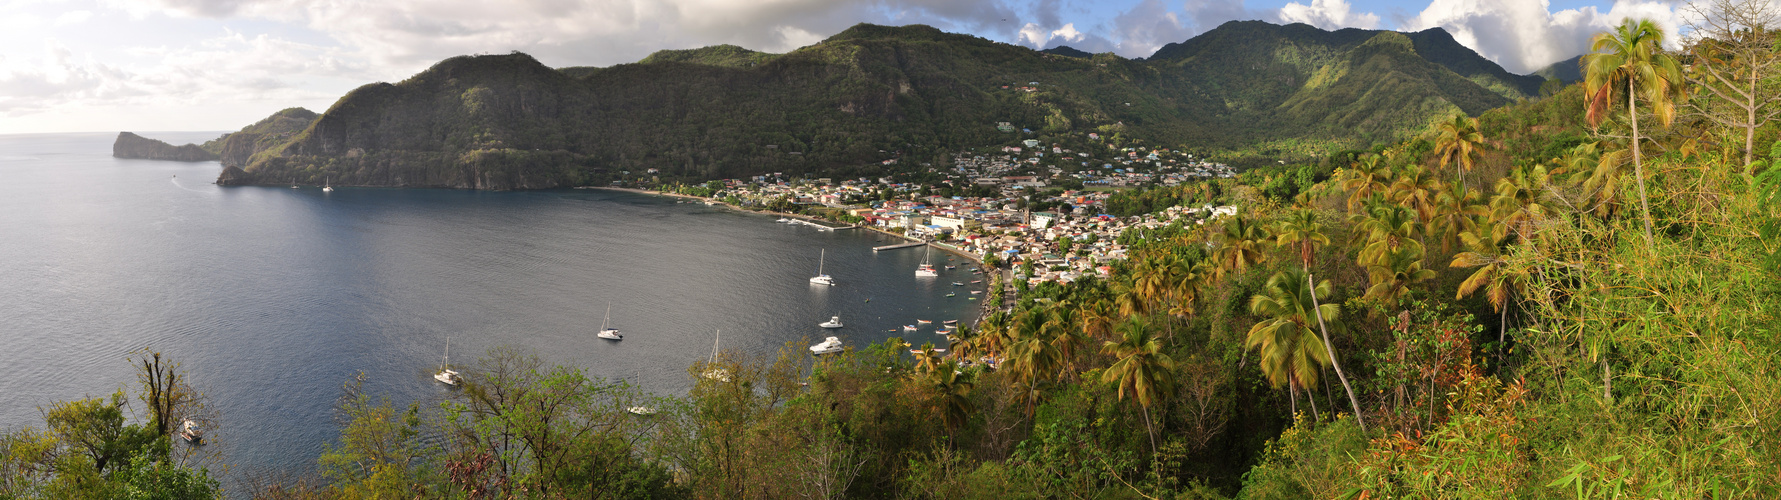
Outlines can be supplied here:
<path id="1" fill-rule="evenodd" d="M 321 473 L 253 495 L 1776 498 L 1781 53 L 1740 12 L 1679 52 L 1630 20 L 1585 82 L 1407 141 L 1124 192 L 1240 212 L 1131 231 L 951 356 L 732 351 L 648 397 L 497 347 L 438 407 L 347 383 Z M 84 461 L 61 429 L 4 448 Z M 80 486 L 36 457 L 0 495 Z"/>

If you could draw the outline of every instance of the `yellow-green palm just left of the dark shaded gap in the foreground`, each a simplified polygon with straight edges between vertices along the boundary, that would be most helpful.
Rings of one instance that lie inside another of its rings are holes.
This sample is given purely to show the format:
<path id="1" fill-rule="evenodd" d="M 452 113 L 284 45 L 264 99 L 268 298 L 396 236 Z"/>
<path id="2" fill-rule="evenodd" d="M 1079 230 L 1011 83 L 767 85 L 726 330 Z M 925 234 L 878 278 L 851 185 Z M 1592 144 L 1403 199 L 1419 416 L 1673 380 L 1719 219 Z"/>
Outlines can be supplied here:
<path id="1" fill-rule="evenodd" d="M 1106 342 L 1101 352 L 1111 354 L 1113 361 L 1101 374 L 1102 383 L 1118 386 L 1118 400 L 1131 393 L 1143 413 L 1143 429 L 1151 434 L 1151 452 L 1156 452 L 1156 427 L 1151 425 L 1151 404 L 1175 386 L 1175 359 L 1163 352 L 1163 342 L 1151 335 L 1151 326 L 1142 317 L 1131 317 L 1120 324 L 1120 342 Z"/>

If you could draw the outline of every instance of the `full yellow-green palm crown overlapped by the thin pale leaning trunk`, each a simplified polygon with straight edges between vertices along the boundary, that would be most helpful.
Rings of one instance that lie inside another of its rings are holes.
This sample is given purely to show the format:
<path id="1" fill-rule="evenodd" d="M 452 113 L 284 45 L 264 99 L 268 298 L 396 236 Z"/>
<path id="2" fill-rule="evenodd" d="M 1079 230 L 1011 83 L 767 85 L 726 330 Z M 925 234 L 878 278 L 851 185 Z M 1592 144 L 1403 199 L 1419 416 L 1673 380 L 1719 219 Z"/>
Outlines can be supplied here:
<path id="1" fill-rule="evenodd" d="M 1257 365 L 1268 383 L 1275 388 L 1288 386 L 1293 413 L 1298 413 L 1298 390 L 1316 388 L 1318 370 L 1330 363 L 1327 345 L 1311 331 L 1313 315 L 1341 326 L 1341 306 L 1311 302 L 1311 294 L 1329 295 L 1329 281 L 1309 288 L 1307 279 L 1300 270 L 1270 276 L 1263 294 L 1248 297 L 1248 311 L 1263 320 L 1252 326 L 1243 340 L 1245 349 L 1257 351 Z"/>

